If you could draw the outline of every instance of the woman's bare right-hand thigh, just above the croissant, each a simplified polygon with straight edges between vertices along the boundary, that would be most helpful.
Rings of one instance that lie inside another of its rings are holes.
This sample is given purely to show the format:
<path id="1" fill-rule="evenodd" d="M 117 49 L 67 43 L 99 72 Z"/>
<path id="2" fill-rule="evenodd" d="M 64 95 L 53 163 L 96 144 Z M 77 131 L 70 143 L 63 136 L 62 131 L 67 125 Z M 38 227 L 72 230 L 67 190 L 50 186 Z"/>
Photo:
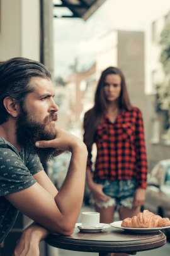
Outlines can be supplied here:
<path id="1" fill-rule="evenodd" d="M 118 212 L 119 212 L 120 220 L 123 221 L 123 219 L 125 219 L 127 217 L 132 218 L 133 216 L 137 216 L 137 214 L 139 214 L 139 212 L 140 212 L 140 207 L 136 207 L 136 208 L 132 208 L 132 209 L 129 209 L 127 207 L 120 207 Z M 114 256 L 128 256 L 128 254 L 127 253 L 115 253 Z"/>

